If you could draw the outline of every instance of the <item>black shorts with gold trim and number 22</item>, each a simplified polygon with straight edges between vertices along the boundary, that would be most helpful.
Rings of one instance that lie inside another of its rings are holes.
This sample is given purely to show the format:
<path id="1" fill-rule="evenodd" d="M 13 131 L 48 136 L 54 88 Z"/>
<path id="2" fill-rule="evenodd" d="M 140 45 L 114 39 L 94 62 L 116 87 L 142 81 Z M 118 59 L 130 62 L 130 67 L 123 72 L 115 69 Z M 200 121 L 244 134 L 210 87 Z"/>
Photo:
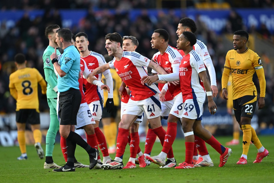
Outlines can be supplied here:
<path id="1" fill-rule="evenodd" d="M 257 96 L 246 95 L 233 100 L 235 118 L 241 122 L 241 117 L 253 117 L 257 104 Z"/>

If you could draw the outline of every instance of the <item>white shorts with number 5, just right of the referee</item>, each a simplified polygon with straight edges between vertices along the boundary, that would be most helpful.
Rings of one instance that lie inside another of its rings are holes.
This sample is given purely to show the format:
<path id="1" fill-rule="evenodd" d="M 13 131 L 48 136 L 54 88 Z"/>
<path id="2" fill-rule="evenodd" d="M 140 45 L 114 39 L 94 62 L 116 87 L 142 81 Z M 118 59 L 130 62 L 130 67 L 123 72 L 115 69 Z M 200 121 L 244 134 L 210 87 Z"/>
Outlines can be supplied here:
<path id="1" fill-rule="evenodd" d="M 81 103 L 79 107 L 79 111 L 77 113 L 77 125 L 75 125 L 75 129 L 82 129 L 83 126 L 95 124 L 95 121 L 92 117 L 91 111 L 88 107 L 87 103 Z"/>

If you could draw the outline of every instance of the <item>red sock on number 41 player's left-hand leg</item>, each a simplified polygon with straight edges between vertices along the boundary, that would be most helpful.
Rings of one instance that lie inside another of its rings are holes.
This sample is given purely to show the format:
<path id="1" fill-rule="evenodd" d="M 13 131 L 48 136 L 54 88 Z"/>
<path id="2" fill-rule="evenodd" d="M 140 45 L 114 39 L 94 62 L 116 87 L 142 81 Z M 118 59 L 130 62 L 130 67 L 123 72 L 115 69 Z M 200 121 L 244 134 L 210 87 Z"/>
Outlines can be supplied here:
<path id="1" fill-rule="evenodd" d="M 128 129 L 118 128 L 118 135 L 117 135 L 117 149 L 116 149 L 116 156 L 123 159 L 123 155 L 126 149 L 126 144 L 128 142 Z"/>

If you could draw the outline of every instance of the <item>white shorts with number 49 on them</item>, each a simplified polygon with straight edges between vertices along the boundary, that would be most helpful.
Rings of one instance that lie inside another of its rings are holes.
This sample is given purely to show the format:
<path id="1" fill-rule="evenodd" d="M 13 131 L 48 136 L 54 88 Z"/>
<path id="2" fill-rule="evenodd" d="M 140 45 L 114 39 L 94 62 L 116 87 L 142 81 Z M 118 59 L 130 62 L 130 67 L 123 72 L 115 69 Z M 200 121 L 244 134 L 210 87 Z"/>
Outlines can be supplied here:
<path id="1" fill-rule="evenodd" d="M 183 117 L 188 119 L 202 120 L 204 103 L 196 99 L 187 99 L 184 103 Z"/>

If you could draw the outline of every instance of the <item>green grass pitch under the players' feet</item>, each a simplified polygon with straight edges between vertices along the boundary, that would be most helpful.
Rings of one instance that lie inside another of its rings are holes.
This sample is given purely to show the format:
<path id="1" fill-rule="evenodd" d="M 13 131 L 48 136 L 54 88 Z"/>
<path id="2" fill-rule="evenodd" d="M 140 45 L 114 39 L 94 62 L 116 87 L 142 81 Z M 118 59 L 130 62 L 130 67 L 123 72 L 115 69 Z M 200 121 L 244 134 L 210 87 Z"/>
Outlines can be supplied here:
<path id="1" fill-rule="evenodd" d="M 241 137 L 240 137 L 241 138 Z M 210 146 L 209 154 L 213 159 L 214 167 L 201 167 L 193 169 L 158 168 L 151 164 L 145 168 L 125 170 L 89 170 L 88 168 L 76 168 L 75 172 L 52 172 L 52 169 L 43 169 L 44 160 L 40 160 L 33 146 L 27 146 L 28 160 L 19 161 L 19 147 L 0 147 L 0 182 L 274 182 L 274 152 L 273 136 L 260 136 L 261 142 L 266 147 L 270 156 L 263 159 L 262 163 L 253 164 L 257 149 L 250 146 L 246 165 L 237 165 L 236 162 L 242 153 L 242 145 L 231 146 L 232 154 L 224 167 L 218 167 L 219 154 Z M 231 140 L 231 137 L 217 137 L 220 143 Z M 144 143 L 140 144 L 144 149 Z M 45 145 L 43 145 L 45 150 Z M 160 153 L 160 143 L 155 143 L 152 156 Z M 184 140 L 176 140 L 173 145 L 174 156 L 177 163 L 183 162 L 185 157 Z M 79 162 L 88 164 L 88 155 L 80 148 L 76 148 L 75 156 Z M 114 154 L 110 155 L 114 158 Z M 129 147 L 124 154 L 124 165 L 129 158 Z M 60 144 L 55 145 L 53 160 L 57 164 L 63 164 L 64 158 Z"/>

